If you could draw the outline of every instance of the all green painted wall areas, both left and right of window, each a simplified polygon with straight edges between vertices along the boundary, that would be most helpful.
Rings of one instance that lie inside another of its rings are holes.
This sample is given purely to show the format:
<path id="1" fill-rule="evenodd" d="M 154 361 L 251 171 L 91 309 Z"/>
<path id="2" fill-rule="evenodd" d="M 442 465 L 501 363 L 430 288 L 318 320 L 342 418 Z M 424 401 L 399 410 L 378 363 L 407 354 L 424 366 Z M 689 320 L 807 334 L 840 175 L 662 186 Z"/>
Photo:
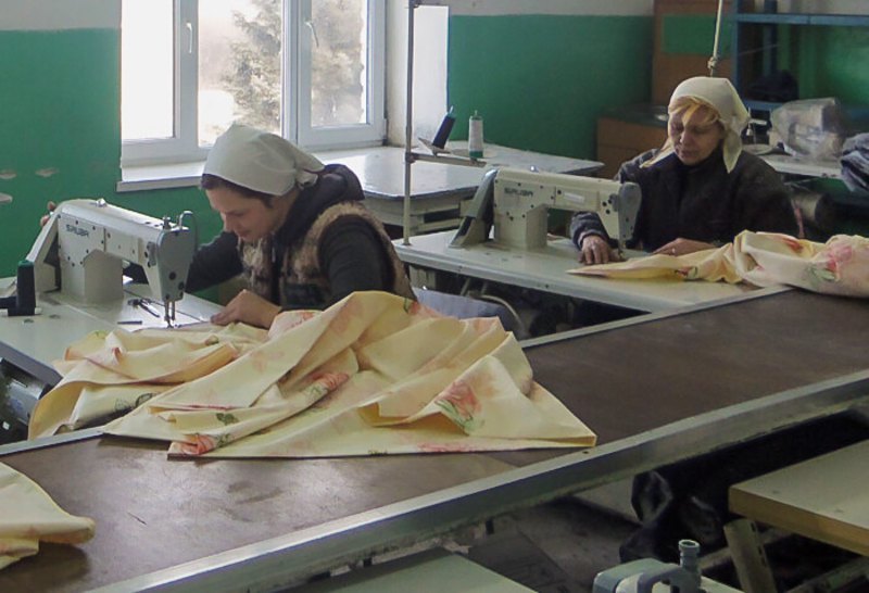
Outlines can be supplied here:
<path id="1" fill-rule="evenodd" d="M 672 18 L 667 30 L 696 28 Z M 708 29 L 708 20 L 703 26 Z M 605 109 L 648 100 L 651 16 L 452 16 L 450 103 L 454 138 L 478 110 L 489 142 L 591 159 Z M 803 96 L 869 104 L 869 29 L 803 28 L 795 64 Z M 669 36 L 668 36 L 669 37 Z M 722 36 L 727 39 L 729 36 Z M 700 46 L 696 36 L 667 46 Z M 0 31 L 0 276 L 14 274 L 49 200 L 104 197 L 153 216 L 191 210 L 203 239 L 219 218 L 196 188 L 115 192 L 119 179 L 119 39 L 116 29 Z M 419 74 L 421 75 L 421 74 Z"/>

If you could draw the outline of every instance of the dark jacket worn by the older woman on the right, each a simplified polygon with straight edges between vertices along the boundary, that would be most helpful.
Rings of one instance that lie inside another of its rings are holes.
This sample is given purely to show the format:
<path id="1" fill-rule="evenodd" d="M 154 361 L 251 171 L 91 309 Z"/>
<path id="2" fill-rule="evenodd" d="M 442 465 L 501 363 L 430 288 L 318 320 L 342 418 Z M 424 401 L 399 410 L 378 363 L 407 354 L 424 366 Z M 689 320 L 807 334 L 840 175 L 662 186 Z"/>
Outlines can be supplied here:
<path id="1" fill-rule="evenodd" d="M 797 234 L 788 189 L 758 156 L 742 152 L 729 174 L 720 149 L 698 165 L 684 165 L 671 154 L 642 168 L 655 152 L 625 163 L 617 176 L 635 181 L 642 192 L 632 247 L 654 251 L 680 237 L 721 244 L 743 230 Z M 588 235 L 607 237 L 601 218 L 575 215 L 570 237 L 577 247 Z"/>

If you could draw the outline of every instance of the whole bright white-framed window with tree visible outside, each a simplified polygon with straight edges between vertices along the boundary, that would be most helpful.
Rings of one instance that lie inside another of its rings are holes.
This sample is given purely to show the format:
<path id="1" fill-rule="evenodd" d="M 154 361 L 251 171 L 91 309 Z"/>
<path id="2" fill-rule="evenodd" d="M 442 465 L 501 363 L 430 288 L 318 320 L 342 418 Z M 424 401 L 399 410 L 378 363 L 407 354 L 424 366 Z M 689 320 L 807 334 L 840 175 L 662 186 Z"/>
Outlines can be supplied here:
<path id="1" fill-rule="evenodd" d="M 308 149 L 385 136 L 385 0 L 122 0 L 125 165 L 204 160 L 232 122 Z"/>

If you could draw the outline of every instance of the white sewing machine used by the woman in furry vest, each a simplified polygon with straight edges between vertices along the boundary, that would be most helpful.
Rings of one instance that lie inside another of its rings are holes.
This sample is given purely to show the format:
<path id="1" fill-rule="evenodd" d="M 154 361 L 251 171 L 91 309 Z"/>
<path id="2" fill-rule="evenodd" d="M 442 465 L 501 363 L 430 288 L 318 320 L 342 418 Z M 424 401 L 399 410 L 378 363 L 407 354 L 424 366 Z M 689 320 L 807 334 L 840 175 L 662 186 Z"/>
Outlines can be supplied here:
<path id="1" fill-rule="evenodd" d="M 196 234 L 168 217 L 162 220 L 105 200 L 62 202 L 42 227 L 27 258 L 34 263 L 37 292 L 61 290 L 87 303 L 123 298 L 124 262 L 144 269 L 164 319 L 175 319 L 187 272 L 197 248 Z"/>

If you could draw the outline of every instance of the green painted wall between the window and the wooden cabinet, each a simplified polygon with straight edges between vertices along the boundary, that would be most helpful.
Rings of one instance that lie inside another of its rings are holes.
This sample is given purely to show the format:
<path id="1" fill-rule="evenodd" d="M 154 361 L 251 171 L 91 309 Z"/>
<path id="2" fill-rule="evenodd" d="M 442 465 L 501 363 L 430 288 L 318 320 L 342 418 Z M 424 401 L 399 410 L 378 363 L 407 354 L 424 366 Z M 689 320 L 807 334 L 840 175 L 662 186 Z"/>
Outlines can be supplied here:
<path id="1" fill-rule="evenodd" d="M 647 101 L 652 18 L 453 16 L 448 97 L 453 138 L 479 111 L 487 142 L 593 159 L 604 108 Z"/>

